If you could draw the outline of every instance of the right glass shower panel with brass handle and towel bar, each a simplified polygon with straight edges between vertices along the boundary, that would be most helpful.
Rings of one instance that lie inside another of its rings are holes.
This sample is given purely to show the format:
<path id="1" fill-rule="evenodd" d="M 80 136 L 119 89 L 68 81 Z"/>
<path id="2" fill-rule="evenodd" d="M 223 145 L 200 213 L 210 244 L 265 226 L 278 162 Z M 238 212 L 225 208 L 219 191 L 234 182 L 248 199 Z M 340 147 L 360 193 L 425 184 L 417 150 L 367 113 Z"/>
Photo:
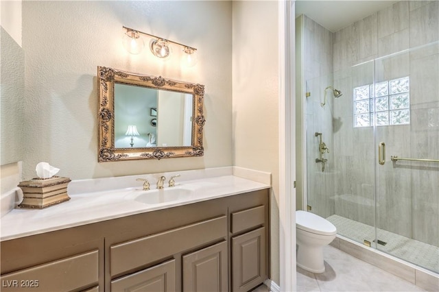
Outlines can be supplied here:
<path id="1" fill-rule="evenodd" d="M 376 247 L 436 273 L 439 163 L 434 160 L 439 159 L 438 56 L 436 42 L 375 60 L 373 113 Z M 380 143 L 385 152 L 381 157 Z"/>

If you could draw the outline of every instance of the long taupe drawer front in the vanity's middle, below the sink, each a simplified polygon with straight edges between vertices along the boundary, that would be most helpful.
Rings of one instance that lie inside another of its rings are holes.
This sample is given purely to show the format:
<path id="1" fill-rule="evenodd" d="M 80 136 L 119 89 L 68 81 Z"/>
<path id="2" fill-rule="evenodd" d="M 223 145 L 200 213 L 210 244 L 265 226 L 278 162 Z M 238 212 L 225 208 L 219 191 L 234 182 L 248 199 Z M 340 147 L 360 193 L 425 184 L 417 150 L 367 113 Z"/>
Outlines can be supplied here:
<path id="1" fill-rule="evenodd" d="M 110 273 L 117 276 L 147 263 L 227 236 L 227 217 L 217 217 L 110 247 Z"/>

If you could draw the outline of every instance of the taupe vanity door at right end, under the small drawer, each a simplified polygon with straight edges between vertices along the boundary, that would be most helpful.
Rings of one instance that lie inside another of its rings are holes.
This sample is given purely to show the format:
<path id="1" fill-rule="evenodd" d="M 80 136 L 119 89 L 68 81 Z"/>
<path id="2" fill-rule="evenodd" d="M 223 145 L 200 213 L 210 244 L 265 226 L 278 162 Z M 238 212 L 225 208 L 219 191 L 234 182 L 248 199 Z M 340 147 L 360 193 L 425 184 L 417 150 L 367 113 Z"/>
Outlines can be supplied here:
<path id="1" fill-rule="evenodd" d="M 265 228 L 232 237 L 232 290 L 249 291 L 267 278 Z"/>

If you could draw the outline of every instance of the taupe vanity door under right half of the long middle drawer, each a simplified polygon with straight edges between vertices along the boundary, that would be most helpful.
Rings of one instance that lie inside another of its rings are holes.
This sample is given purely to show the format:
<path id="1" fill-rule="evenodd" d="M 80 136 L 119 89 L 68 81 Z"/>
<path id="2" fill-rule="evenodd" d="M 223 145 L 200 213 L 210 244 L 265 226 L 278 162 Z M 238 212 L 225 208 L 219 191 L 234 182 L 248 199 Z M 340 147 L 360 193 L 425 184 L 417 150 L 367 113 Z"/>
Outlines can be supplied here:
<path id="1" fill-rule="evenodd" d="M 183 291 L 228 291 L 227 241 L 182 257 Z"/>

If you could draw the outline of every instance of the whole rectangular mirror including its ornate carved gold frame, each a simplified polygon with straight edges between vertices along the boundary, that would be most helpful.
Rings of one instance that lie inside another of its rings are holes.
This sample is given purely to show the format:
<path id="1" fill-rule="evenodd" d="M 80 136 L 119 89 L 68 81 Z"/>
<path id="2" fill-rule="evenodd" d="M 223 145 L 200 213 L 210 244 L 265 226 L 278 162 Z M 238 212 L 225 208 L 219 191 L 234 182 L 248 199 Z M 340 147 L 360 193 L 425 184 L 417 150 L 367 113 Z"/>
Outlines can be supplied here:
<path id="1" fill-rule="evenodd" d="M 99 162 L 203 156 L 204 86 L 98 66 Z"/>

